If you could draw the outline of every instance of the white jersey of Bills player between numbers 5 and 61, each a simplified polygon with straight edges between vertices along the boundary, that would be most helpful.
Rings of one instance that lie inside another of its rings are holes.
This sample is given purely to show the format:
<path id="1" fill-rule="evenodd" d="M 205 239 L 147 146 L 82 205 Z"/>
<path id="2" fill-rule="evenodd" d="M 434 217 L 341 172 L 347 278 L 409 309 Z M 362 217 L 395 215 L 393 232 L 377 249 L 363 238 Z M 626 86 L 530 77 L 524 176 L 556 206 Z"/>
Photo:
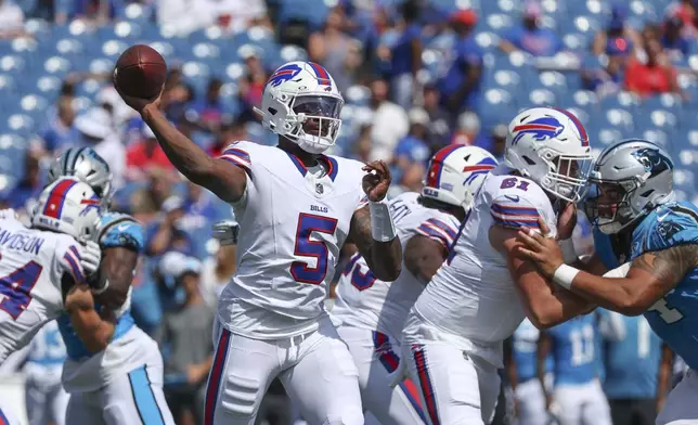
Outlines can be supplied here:
<path id="1" fill-rule="evenodd" d="M 404 250 L 415 235 L 430 237 L 448 249 L 461 226 L 450 214 L 427 208 L 417 202 L 419 194 L 403 193 L 390 202 L 390 212 Z M 424 283 L 406 266 L 395 282 L 377 280 L 366 260 L 356 254 L 347 265 L 337 285 L 337 300 L 332 315 L 344 324 L 378 331 L 390 340 L 400 340 L 400 334 L 410 308 L 417 299 Z"/>

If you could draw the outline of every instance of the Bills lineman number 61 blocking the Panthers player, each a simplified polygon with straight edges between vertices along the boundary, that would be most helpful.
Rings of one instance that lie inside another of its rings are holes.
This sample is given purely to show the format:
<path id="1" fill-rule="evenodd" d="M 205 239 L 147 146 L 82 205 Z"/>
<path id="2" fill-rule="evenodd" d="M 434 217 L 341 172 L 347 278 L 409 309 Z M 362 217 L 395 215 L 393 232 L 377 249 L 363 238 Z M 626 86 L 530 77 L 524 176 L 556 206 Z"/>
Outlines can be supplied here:
<path id="1" fill-rule="evenodd" d="M 515 250 L 516 229 L 539 217 L 571 244 L 573 223 L 565 220 L 573 216 L 592 159 L 584 128 L 564 110 L 524 111 L 509 124 L 504 157 L 402 334 L 402 359 L 434 425 L 491 422 L 504 339 L 527 315 L 545 327 L 564 320 L 563 310 L 589 306 L 553 292 Z"/>

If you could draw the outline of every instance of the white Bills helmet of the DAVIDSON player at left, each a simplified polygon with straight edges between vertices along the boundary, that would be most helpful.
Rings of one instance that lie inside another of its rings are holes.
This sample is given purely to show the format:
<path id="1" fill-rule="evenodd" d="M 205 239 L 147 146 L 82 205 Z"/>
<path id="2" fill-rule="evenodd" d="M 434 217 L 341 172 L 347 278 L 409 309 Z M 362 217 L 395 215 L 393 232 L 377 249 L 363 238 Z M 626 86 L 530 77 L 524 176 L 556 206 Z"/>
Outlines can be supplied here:
<path id="1" fill-rule="evenodd" d="M 31 227 L 92 241 L 102 216 L 102 203 L 89 184 L 61 178 L 47 186 L 34 207 Z"/>

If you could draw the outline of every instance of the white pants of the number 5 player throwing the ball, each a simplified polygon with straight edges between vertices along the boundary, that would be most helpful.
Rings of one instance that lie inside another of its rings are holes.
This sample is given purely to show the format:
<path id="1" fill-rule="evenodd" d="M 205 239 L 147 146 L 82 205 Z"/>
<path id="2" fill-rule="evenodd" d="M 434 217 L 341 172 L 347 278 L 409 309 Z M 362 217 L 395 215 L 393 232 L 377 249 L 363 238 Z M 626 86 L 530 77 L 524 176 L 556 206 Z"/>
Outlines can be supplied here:
<path id="1" fill-rule="evenodd" d="M 218 320 L 215 326 L 205 425 L 253 425 L 276 376 L 308 424 L 363 424 L 357 366 L 329 319 L 315 332 L 270 340 L 233 334 Z"/>

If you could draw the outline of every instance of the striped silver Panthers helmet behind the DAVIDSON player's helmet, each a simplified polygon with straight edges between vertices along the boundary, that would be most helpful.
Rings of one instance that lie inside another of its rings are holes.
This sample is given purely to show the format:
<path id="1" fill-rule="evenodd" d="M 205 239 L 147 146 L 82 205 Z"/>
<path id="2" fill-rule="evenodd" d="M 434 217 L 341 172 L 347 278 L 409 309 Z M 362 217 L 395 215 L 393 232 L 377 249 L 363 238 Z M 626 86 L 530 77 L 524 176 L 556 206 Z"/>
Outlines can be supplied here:
<path id="1" fill-rule="evenodd" d="M 88 183 L 105 205 L 112 198 L 109 165 L 92 147 L 70 147 L 62 153 L 49 169 L 48 184 L 62 177 Z"/>

